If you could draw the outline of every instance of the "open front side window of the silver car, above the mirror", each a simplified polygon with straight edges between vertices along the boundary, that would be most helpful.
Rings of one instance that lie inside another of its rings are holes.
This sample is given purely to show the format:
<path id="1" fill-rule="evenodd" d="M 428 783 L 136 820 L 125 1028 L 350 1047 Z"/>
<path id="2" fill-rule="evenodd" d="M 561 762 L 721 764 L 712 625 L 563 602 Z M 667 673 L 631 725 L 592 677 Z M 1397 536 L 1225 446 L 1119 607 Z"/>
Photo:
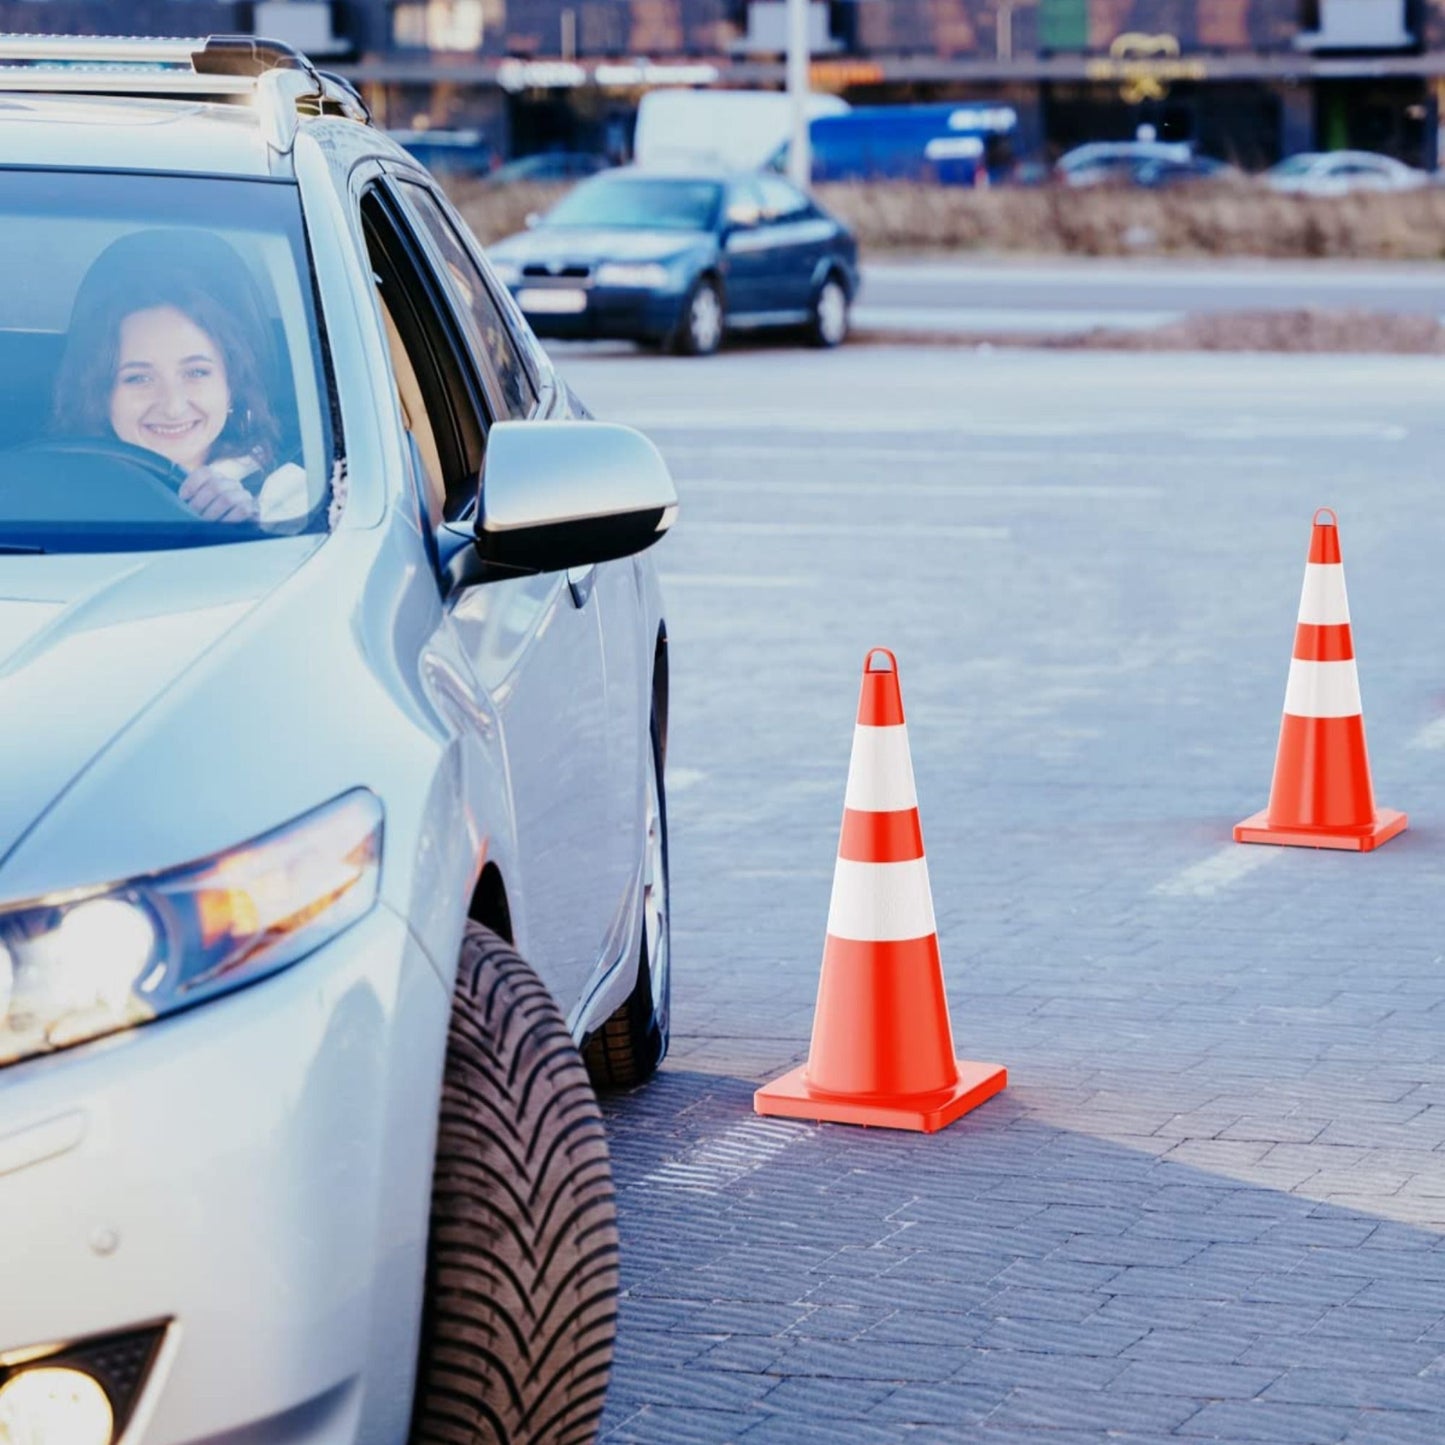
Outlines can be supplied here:
<path id="1" fill-rule="evenodd" d="M 490 416 L 441 279 L 396 202 L 379 188 L 361 199 L 367 259 L 377 283 L 392 374 L 412 462 L 435 525 L 477 499 Z M 441 516 L 438 516 L 441 513 Z"/>

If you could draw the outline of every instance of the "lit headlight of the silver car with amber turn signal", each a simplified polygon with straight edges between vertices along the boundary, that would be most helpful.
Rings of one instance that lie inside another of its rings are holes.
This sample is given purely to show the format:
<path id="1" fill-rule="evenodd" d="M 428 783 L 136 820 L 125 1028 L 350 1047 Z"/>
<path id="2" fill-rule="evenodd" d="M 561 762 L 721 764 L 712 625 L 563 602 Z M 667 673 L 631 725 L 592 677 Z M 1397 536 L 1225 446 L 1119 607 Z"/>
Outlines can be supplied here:
<path id="1" fill-rule="evenodd" d="M 0 1066 L 254 983 L 376 902 L 381 803 L 357 789 L 197 863 L 0 909 Z"/>

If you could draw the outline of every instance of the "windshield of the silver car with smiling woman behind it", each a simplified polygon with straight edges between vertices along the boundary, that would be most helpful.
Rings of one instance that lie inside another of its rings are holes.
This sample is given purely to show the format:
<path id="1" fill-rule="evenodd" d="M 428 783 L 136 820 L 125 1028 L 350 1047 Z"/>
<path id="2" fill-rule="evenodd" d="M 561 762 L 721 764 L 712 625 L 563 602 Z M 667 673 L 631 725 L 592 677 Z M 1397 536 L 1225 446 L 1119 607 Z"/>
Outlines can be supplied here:
<path id="1" fill-rule="evenodd" d="M 0 552 L 327 529 L 293 185 L 0 169 Z"/>

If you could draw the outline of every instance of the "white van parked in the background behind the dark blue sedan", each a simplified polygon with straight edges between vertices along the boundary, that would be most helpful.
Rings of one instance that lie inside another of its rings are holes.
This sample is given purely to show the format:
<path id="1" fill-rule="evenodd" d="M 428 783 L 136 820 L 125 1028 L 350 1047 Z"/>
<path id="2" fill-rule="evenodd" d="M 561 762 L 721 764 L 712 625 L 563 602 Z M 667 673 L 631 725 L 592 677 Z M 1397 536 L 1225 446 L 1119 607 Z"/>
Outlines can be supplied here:
<path id="1" fill-rule="evenodd" d="M 841 116 L 838 95 L 809 95 L 808 118 Z M 637 107 L 633 159 L 642 166 L 707 165 L 754 171 L 792 131 L 785 91 L 655 90 Z"/>

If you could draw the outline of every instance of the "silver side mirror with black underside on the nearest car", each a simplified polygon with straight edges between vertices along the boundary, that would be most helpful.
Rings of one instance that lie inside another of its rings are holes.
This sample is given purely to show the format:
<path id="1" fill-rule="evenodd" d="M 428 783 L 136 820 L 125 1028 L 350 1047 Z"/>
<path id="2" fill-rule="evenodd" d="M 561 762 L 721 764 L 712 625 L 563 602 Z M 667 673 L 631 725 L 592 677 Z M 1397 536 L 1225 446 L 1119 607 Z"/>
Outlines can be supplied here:
<path id="1" fill-rule="evenodd" d="M 678 513 L 662 454 L 611 422 L 497 422 L 474 523 L 499 571 L 559 572 L 652 546 Z"/>

